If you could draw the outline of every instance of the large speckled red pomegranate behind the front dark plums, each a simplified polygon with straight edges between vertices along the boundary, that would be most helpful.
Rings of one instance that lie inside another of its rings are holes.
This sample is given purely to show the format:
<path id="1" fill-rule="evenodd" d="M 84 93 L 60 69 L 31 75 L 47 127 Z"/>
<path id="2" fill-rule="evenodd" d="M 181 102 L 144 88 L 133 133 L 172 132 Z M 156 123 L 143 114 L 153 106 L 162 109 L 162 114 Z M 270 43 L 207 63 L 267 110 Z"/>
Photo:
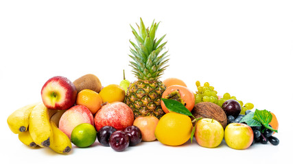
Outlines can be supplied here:
<path id="1" fill-rule="evenodd" d="M 99 131 L 103 126 L 113 126 L 117 131 L 123 131 L 132 126 L 133 120 L 133 111 L 124 102 L 108 103 L 95 114 L 95 129 Z"/>

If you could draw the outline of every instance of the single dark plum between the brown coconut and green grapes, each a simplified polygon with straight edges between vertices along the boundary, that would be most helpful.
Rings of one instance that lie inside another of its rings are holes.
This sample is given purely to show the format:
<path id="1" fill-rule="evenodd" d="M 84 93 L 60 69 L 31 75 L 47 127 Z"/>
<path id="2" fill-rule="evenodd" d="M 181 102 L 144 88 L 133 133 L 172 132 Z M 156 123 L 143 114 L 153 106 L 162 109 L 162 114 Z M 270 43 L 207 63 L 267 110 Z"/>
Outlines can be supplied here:
<path id="1" fill-rule="evenodd" d="M 237 118 L 241 112 L 241 105 L 237 100 L 226 100 L 222 105 L 222 109 L 225 111 L 226 115 L 233 115 L 234 118 Z"/>

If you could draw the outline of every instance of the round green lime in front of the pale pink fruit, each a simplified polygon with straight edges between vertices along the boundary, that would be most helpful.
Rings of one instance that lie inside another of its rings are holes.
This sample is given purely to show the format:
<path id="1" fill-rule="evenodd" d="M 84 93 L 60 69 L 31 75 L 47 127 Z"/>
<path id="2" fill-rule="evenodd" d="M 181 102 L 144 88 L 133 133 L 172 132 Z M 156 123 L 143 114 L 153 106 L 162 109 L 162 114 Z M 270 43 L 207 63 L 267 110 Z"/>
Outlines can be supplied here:
<path id="1" fill-rule="evenodd" d="M 71 133 L 71 142 L 80 148 L 91 146 L 96 139 L 97 132 L 95 127 L 91 124 L 79 124 L 73 128 Z"/>

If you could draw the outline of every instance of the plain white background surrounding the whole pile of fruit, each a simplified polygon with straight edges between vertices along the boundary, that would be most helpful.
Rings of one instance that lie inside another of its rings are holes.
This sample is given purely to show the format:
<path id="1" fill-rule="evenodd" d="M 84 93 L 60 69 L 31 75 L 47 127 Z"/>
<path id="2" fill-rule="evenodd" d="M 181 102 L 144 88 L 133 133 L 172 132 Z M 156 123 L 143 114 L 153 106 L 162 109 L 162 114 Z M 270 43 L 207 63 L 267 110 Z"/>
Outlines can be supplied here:
<path id="1" fill-rule="evenodd" d="M 292 156 L 292 1 L 1 1 L 1 161 L 5 163 L 276 163 Z M 163 146 L 141 143 L 124 152 L 95 143 L 60 155 L 24 146 L 8 128 L 8 115 L 40 101 L 47 79 L 74 81 L 93 73 L 106 86 L 134 81 L 130 29 L 161 21 L 169 67 L 161 80 L 177 77 L 196 92 L 208 81 L 219 94 L 267 109 L 279 120 L 279 146 L 257 144 L 233 150 L 222 143 Z M 290 152 L 291 151 L 291 152 Z M 8 162 L 9 161 L 9 162 Z"/>

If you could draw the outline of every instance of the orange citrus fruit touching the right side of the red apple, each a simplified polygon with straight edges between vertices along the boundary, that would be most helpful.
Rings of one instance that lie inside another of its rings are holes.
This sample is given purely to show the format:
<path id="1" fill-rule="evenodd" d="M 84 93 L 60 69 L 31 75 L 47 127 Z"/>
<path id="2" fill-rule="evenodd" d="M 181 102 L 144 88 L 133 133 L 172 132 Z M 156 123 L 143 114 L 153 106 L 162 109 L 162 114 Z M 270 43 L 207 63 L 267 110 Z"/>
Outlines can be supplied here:
<path id="1" fill-rule="evenodd" d="M 102 97 L 97 92 L 89 89 L 78 92 L 78 96 L 76 98 L 76 105 L 86 106 L 93 115 L 101 109 L 102 103 Z"/>

